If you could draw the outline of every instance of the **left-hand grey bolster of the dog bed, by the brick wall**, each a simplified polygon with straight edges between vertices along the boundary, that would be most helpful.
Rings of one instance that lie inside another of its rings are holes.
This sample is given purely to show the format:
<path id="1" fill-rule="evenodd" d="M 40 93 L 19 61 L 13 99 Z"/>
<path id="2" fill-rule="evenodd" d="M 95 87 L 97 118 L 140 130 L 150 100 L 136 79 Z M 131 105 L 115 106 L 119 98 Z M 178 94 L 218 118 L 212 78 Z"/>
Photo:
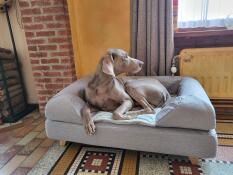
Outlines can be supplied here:
<path id="1" fill-rule="evenodd" d="M 67 123 L 82 124 L 81 109 L 85 101 L 79 96 L 89 82 L 90 77 L 75 81 L 52 97 L 45 107 L 45 117 Z"/>

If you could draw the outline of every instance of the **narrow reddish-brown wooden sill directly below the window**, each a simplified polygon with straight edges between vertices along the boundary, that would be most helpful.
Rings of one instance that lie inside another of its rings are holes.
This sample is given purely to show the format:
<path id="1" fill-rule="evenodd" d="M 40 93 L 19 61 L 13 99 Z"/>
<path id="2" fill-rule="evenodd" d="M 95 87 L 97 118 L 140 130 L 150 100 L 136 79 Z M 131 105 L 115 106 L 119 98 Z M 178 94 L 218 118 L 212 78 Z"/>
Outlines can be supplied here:
<path id="1" fill-rule="evenodd" d="M 233 30 L 205 30 L 205 31 L 177 31 L 175 32 L 174 37 L 201 37 L 201 36 L 225 36 L 225 35 L 233 35 Z"/>

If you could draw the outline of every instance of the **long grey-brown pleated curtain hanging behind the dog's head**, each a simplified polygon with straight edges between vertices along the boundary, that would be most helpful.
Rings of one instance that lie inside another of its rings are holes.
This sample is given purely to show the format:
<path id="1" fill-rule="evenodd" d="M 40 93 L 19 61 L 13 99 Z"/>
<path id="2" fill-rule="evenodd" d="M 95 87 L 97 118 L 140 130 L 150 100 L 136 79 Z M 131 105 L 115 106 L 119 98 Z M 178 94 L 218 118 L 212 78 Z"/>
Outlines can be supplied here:
<path id="1" fill-rule="evenodd" d="M 172 0 L 131 0 L 131 54 L 139 75 L 170 75 L 174 51 Z"/>

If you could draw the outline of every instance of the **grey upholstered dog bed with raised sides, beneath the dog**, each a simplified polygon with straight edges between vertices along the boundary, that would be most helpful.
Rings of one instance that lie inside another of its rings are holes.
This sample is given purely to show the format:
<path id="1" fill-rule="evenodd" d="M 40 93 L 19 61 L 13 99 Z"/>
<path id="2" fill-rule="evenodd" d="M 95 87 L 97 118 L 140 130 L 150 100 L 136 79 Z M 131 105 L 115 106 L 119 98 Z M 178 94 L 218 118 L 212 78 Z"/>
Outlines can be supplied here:
<path id="1" fill-rule="evenodd" d="M 45 110 L 49 138 L 203 158 L 215 156 L 215 111 L 196 80 L 167 76 L 130 77 L 156 78 L 177 97 L 156 114 L 155 127 L 98 122 L 95 135 L 88 136 L 80 116 L 85 102 L 78 94 L 90 78 L 77 80 L 49 100 Z"/>

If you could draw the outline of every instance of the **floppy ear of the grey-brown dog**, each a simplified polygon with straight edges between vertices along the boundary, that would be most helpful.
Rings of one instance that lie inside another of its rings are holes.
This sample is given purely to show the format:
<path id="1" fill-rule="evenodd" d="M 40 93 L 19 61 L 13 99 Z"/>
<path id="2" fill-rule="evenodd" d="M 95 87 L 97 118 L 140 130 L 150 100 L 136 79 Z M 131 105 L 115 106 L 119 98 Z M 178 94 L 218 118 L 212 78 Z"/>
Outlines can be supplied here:
<path id="1" fill-rule="evenodd" d="M 114 61 L 112 55 L 111 54 L 105 55 L 103 58 L 102 71 L 108 75 L 112 75 L 115 77 L 113 63 Z"/>

